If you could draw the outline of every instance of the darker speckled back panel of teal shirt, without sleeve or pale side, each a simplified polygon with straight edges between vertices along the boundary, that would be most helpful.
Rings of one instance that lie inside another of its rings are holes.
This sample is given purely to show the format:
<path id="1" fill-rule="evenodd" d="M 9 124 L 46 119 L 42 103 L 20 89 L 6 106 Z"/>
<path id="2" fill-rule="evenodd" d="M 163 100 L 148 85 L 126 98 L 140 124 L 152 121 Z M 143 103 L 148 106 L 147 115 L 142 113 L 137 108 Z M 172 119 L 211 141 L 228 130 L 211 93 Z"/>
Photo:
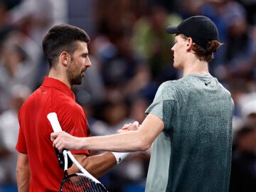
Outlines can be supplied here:
<path id="1" fill-rule="evenodd" d="M 210 75 L 188 75 L 178 86 L 171 150 L 176 189 L 228 191 L 234 108 L 230 92 Z"/>

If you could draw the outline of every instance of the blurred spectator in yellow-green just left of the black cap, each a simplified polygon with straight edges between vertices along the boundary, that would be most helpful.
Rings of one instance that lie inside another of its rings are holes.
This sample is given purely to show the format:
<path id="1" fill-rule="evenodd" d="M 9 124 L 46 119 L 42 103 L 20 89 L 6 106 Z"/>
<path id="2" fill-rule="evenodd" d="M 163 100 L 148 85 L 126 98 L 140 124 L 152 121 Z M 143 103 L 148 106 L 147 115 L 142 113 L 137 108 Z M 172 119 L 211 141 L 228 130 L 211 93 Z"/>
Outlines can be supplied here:
<path id="1" fill-rule="evenodd" d="M 174 36 L 166 34 L 165 28 L 180 22 L 178 14 L 168 13 L 163 6 L 151 6 L 149 15 L 134 24 L 134 50 L 148 60 L 152 79 L 159 83 L 178 77 L 177 70 L 169 63 L 173 58 L 170 50 Z"/>

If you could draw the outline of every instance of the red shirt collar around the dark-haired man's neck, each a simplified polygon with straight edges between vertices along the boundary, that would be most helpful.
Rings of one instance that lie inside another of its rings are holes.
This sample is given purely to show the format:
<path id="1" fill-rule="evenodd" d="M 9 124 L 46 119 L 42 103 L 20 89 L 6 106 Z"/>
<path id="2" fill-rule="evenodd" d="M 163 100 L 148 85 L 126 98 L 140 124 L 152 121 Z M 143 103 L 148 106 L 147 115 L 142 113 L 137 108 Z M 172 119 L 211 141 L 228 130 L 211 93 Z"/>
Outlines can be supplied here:
<path id="1" fill-rule="evenodd" d="M 42 86 L 52 87 L 52 88 L 55 88 L 57 90 L 60 90 L 65 95 L 67 95 L 71 99 L 75 100 L 75 94 L 72 92 L 72 90 L 70 90 L 70 88 L 67 85 L 65 85 L 64 82 L 61 82 L 60 80 L 45 77 L 44 80 L 43 80 Z"/>

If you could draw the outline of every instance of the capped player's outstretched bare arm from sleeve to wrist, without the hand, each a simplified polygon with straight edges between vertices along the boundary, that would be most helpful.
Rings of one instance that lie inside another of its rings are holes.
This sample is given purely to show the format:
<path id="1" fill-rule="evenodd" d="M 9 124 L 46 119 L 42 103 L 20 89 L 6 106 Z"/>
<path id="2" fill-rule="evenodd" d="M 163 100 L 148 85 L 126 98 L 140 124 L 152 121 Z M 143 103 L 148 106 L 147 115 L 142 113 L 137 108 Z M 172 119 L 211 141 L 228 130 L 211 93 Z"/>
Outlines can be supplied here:
<path id="1" fill-rule="evenodd" d="M 80 138 L 78 149 L 95 149 L 103 151 L 146 151 L 164 129 L 164 122 L 154 114 L 149 114 L 140 129 L 122 134 L 100 137 Z"/>

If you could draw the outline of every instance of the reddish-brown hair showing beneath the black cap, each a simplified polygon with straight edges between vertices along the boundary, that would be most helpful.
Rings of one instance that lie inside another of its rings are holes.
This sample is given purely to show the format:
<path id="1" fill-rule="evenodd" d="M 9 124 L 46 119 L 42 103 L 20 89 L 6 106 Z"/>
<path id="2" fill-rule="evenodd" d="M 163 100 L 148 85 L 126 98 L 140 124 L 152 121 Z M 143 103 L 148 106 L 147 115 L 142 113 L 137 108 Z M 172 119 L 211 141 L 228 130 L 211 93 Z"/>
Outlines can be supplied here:
<path id="1" fill-rule="evenodd" d="M 188 37 L 183 34 L 177 34 L 177 35 L 181 35 L 181 38 L 183 39 L 188 39 Z M 222 45 L 223 43 L 220 43 L 220 41 L 218 40 L 211 40 L 211 41 L 208 41 L 207 48 L 202 48 L 201 46 L 198 46 L 197 43 L 195 43 L 193 44 L 192 50 L 194 51 L 195 55 L 198 57 L 199 60 L 203 60 L 209 63 L 210 60 L 213 60 L 214 53 L 218 51 L 218 49 Z"/>

